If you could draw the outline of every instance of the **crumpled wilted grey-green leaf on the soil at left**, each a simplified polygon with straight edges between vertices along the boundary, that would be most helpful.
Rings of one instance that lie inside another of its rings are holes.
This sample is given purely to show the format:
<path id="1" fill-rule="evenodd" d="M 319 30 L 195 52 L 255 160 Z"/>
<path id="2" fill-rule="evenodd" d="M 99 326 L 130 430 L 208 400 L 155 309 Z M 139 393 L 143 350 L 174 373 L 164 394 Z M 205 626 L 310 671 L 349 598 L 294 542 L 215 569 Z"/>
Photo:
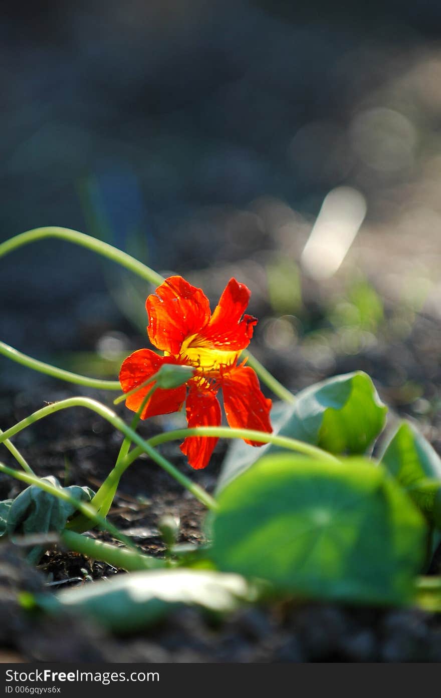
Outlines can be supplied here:
<path id="1" fill-rule="evenodd" d="M 57 478 L 52 475 L 43 477 L 42 480 L 46 480 L 57 489 L 63 489 L 80 502 L 89 502 L 94 497 L 94 492 L 89 487 L 72 485 L 62 488 Z M 17 533 L 27 535 L 50 531 L 59 533 L 66 526 L 66 521 L 73 512 L 75 512 L 75 506 L 70 502 L 55 497 L 36 485 L 31 485 L 20 492 L 10 505 L 6 533 L 8 536 Z M 44 546 L 36 545 L 27 554 L 27 559 L 31 563 L 38 563 L 44 551 Z"/>

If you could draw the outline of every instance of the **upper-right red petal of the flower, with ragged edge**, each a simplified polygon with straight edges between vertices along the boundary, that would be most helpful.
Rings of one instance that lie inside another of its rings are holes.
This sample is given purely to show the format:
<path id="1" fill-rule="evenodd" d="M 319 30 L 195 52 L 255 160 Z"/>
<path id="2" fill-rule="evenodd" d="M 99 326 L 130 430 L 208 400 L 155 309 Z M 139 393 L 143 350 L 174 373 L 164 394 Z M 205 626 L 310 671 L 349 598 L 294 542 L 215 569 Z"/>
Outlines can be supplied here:
<path id="1" fill-rule="evenodd" d="M 257 324 L 253 315 L 244 315 L 250 297 L 251 291 L 244 283 L 230 279 L 211 320 L 202 329 L 200 336 L 224 351 L 245 349 L 253 336 L 253 327 Z"/>

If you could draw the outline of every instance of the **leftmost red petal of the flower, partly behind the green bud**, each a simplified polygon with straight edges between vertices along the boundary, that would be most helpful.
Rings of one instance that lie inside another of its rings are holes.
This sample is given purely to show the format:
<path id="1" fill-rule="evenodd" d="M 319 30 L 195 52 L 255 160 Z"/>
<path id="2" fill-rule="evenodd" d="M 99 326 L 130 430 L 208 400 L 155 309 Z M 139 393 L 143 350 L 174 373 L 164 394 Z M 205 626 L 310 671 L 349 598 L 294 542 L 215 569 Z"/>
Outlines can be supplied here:
<path id="1" fill-rule="evenodd" d="M 163 364 L 175 363 L 177 362 L 172 357 L 158 356 L 150 349 L 139 349 L 124 360 L 121 371 L 119 371 L 119 382 L 123 391 L 129 392 L 137 385 L 141 385 L 146 380 L 149 380 L 149 377 L 153 376 Z M 130 395 L 126 399 L 126 407 L 129 410 L 133 410 L 133 412 L 137 412 L 144 397 L 151 390 L 152 385 L 141 388 L 133 395 Z M 141 419 L 177 412 L 183 406 L 185 399 L 185 385 L 180 385 L 170 390 L 157 388 L 144 410 L 142 410 Z"/>

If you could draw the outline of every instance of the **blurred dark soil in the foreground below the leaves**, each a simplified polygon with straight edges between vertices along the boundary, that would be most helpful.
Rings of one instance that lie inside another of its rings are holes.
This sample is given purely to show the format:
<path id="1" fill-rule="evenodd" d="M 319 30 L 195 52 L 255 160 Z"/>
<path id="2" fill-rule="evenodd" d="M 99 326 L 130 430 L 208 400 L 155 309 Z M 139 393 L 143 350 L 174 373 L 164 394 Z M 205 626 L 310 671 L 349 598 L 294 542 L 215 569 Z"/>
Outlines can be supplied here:
<path id="1" fill-rule="evenodd" d="M 416 609 L 280 604 L 238 611 L 223 623 L 181 609 L 155 628 L 110 637 L 85 618 L 31 618 L 17 588 L 43 591 L 45 578 L 0 548 L 0 641 L 3 661 L 40 662 L 440 662 L 441 619 Z M 89 562 L 50 554 L 59 577 L 84 574 Z M 108 570 L 96 563 L 94 575 Z M 90 582 L 89 582 L 90 583 Z M 46 587 L 47 588 L 47 587 Z"/>

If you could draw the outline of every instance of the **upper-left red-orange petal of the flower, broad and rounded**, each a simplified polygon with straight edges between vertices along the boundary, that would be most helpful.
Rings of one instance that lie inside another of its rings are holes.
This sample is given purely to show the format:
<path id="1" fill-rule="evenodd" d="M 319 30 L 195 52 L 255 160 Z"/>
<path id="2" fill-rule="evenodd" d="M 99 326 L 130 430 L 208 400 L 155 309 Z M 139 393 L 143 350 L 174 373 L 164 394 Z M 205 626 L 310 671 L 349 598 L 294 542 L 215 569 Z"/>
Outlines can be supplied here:
<path id="1" fill-rule="evenodd" d="M 165 279 L 156 295 L 147 298 L 146 309 L 151 343 L 174 356 L 179 355 L 184 339 L 199 332 L 210 318 L 207 296 L 182 276 Z"/>

